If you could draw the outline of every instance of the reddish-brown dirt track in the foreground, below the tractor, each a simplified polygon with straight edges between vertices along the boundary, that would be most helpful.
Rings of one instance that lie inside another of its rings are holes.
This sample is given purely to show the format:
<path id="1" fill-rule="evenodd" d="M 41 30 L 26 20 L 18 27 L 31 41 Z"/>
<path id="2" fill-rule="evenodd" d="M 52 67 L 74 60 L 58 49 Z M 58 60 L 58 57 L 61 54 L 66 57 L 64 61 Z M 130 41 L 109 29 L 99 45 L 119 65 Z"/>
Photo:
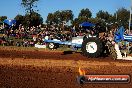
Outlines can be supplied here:
<path id="1" fill-rule="evenodd" d="M 129 74 L 132 61 L 109 57 L 91 59 L 80 53 L 20 50 L 0 47 L 0 88 L 131 88 L 128 84 L 84 84 L 76 77 L 78 67 L 87 74 Z"/>

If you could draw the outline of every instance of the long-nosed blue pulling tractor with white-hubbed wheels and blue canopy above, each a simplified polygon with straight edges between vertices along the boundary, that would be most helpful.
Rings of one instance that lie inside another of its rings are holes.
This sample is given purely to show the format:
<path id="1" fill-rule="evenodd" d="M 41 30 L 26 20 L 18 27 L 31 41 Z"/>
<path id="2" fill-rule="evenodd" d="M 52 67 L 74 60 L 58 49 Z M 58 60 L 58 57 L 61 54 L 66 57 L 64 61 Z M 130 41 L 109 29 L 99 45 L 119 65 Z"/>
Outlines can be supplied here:
<path id="1" fill-rule="evenodd" d="M 83 22 L 80 24 L 83 27 L 90 27 L 88 29 L 90 33 L 84 36 L 72 37 L 70 41 L 61 41 L 57 39 L 44 40 L 47 43 L 49 49 L 57 48 L 59 45 L 71 46 L 75 51 L 81 48 L 82 54 L 88 57 L 99 57 L 103 52 L 103 43 L 98 37 L 98 32 L 94 29 L 95 24 L 89 22 Z M 94 34 L 92 34 L 94 32 Z M 76 49 L 77 48 L 77 49 Z"/>

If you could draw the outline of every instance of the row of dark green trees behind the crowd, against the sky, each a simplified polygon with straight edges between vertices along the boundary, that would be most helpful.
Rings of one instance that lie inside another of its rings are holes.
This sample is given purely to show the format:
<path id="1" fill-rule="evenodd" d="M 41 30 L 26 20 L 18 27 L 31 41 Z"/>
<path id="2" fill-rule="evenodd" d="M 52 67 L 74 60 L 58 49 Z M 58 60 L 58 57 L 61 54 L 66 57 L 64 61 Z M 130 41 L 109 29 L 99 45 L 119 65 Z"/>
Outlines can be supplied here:
<path id="1" fill-rule="evenodd" d="M 37 2 L 39 0 L 22 0 L 21 4 L 25 8 L 25 15 L 18 14 L 16 19 L 20 24 L 24 26 L 38 26 L 43 24 L 43 18 L 36 10 Z M 79 26 L 82 22 L 91 22 L 99 24 L 101 27 L 114 27 L 117 25 L 123 25 L 128 27 L 130 12 L 125 8 L 119 8 L 114 14 L 110 14 L 107 11 L 100 10 L 96 13 L 96 17 L 92 17 L 92 12 L 88 9 L 82 9 L 78 17 L 74 17 L 72 10 L 58 10 L 53 13 L 48 13 L 46 23 L 47 24 L 67 24 L 72 26 Z M 6 19 L 7 16 L 1 16 L 0 21 Z"/>

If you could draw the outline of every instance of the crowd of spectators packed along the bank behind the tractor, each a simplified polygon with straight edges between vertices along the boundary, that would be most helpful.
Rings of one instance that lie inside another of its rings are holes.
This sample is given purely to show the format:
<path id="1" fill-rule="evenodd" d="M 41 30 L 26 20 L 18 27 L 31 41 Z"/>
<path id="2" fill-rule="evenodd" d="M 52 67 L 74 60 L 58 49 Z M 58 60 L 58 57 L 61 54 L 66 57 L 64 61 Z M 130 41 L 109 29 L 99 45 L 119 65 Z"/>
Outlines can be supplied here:
<path id="1" fill-rule="evenodd" d="M 109 36 L 114 38 L 113 34 L 117 28 L 112 29 L 108 33 L 104 33 L 102 39 Z M 37 27 L 24 27 L 22 24 L 19 27 L 8 27 L 0 30 L 2 33 L 0 45 L 11 46 L 34 46 L 35 44 L 44 45 L 44 39 L 59 39 L 61 41 L 71 40 L 72 37 L 85 36 L 86 34 L 98 34 L 97 30 L 89 31 L 82 27 L 75 28 L 75 26 L 58 26 L 58 25 L 38 25 Z"/>

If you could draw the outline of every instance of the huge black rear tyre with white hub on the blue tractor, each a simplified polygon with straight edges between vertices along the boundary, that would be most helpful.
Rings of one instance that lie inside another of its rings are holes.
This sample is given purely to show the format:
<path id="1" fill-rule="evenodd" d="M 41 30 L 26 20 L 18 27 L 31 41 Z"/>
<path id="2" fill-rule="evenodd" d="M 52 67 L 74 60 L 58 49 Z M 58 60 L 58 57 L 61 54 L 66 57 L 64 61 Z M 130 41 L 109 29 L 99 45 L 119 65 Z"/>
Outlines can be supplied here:
<path id="1" fill-rule="evenodd" d="M 96 58 L 101 56 L 103 53 L 103 44 L 102 41 L 99 38 L 87 38 L 82 43 L 82 54 L 91 57 Z"/>

